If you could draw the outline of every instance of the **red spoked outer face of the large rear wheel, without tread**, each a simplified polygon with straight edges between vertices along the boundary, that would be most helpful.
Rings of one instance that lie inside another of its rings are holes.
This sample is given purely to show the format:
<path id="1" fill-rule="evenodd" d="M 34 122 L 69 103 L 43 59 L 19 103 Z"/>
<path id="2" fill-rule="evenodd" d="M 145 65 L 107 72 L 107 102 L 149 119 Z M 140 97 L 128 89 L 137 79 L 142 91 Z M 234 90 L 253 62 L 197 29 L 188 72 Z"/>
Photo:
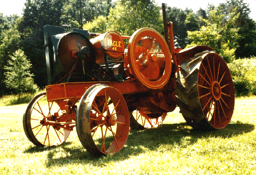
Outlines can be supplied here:
<path id="1" fill-rule="evenodd" d="M 226 127 L 234 112 L 235 91 L 229 68 L 216 53 L 203 56 L 198 74 L 198 94 L 208 122 L 216 129 Z"/>

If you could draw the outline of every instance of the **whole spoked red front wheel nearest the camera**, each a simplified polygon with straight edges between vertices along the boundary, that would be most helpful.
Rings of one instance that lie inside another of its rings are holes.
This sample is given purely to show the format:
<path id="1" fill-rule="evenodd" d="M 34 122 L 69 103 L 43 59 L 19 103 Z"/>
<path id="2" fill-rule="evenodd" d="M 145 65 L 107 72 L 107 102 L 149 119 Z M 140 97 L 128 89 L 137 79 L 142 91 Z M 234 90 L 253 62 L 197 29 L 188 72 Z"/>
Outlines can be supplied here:
<path id="1" fill-rule="evenodd" d="M 104 102 L 97 104 L 96 96 L 103 96 Z M 82 145 L 94 155 L 120 151 L 129 134 L 129 113 L 122 94 L 105 85 L 89 88 L 79 103 L 77 130 Z"/>

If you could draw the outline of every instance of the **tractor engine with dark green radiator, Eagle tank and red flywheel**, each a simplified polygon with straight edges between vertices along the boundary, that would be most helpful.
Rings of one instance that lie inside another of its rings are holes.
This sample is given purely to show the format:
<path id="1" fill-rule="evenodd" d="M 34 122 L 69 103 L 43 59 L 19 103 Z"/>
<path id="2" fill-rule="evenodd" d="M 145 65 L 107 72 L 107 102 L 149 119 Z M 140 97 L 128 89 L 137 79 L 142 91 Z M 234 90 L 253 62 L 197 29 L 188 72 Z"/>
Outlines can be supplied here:
<path id="1" fill-rule="evenodd" d="M 131 111 L 138 109 L 158 118 L 177 106 L 175 81 L 170 78 L 176 70 L 172 70 L 168 45 L 156 30 L 141 28 L 132 36 L 49 25 L 44 30 L 45 39 L 50 38 L 46 47 L 49 84 L 134 81 L 138 93 L 123 95 Z M 130 39 L 126 49 L 123 38 Z"/>

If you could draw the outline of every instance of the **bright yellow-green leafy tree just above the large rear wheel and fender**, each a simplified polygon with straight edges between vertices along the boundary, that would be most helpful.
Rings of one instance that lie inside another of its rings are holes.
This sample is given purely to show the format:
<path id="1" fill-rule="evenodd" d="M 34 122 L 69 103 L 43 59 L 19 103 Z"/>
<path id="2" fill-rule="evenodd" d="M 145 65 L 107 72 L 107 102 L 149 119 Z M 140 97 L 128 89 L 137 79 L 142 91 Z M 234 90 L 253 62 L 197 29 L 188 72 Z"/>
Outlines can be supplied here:
<path id="1" fill-rule="evenodd" d="M 238 37 L 238 29 L 234 28 L 234 19 L 239 17 L 235 15 L 236 9 L 229 13 L 229 19 L 226 19 L 221 6 L 211 10 L 208 16 L 209 20 L 202 19 L 206 26 L 202 26 L 199 31 L 188 31 L 188 38 L 192 43 L 187 47 L 208 45 L 223 56 L 226 62 L 232 62 L 235 59 Z"/>

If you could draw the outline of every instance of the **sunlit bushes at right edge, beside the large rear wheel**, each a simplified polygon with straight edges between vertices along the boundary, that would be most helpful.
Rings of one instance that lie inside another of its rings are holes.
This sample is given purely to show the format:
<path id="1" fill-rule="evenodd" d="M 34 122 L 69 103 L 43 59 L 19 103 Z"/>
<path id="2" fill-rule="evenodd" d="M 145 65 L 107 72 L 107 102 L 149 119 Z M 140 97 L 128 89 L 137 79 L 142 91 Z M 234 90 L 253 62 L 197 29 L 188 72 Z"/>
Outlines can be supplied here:
<path id="1" fill-rule="evenodd" d="M 237 59 L 228 64 L 237 96 L 256 95 L 256 57 Z"/>

